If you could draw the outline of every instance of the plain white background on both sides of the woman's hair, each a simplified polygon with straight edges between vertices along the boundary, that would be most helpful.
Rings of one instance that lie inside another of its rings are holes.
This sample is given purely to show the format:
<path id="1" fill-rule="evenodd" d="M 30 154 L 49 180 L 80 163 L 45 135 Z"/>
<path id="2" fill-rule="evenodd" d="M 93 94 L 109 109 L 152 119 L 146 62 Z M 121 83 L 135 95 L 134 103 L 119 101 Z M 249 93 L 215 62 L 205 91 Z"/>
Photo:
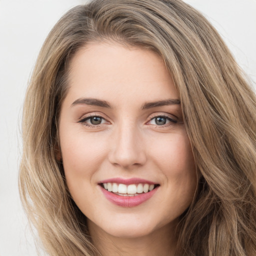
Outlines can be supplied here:
<path id="1" fill-rule="evenodd" d="M 185 0 L 212 22 L 256 81 L 256 0 Z M 20 119 L 25 88 L 47 33 L 86 0 L 0 0 L 0 256 L 36 255 L 19 202 Z"/>

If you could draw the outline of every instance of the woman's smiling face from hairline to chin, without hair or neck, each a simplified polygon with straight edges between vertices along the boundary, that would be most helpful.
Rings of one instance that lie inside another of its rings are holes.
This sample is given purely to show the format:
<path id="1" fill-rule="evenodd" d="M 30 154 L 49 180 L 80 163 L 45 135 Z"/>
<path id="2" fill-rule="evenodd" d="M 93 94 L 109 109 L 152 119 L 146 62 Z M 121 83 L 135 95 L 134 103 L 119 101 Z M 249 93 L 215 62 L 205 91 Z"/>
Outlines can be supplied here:
<path id="1" fill-rule="evenodd" d="M 191 203 L 196 174 L 179 94 L 161 58 L 89 44 L 71 60 L 69 85 L 60 151 L 89 228 L 122 237 L 172 229 Z"/>

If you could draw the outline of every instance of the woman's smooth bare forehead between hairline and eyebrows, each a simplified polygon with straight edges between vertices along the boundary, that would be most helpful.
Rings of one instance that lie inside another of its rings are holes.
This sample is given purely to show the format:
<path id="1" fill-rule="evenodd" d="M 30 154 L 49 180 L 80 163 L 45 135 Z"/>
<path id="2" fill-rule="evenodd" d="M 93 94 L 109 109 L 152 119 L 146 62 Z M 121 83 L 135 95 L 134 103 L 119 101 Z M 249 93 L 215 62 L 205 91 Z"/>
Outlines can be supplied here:
<path id="1" fill-rule="evenodd" d="M 130 102 L 179 97 L 163 60 L 143 48 L 91 43 L 76 52 L 69 68 L 68 94 L 74 99 Z"/>

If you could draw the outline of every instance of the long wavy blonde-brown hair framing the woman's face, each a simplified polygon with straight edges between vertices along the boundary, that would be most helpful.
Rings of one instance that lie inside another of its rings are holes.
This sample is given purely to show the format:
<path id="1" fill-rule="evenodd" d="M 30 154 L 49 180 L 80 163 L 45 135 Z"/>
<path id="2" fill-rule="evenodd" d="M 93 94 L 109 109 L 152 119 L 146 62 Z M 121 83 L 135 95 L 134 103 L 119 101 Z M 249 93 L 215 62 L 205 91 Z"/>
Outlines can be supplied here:
<path id="1" fill-rule="evenodd" d="M 57 128 L 70 59 L 109 39 L 157 52 L 180 94 L 198 185 L 176 255 L 256 255 L 255 94 L 216 30 L 181 0 L 93 0 L 46 38 L 23 108 L 19 189 L 47 253 L 98 255 L 56 157 Z"/>

